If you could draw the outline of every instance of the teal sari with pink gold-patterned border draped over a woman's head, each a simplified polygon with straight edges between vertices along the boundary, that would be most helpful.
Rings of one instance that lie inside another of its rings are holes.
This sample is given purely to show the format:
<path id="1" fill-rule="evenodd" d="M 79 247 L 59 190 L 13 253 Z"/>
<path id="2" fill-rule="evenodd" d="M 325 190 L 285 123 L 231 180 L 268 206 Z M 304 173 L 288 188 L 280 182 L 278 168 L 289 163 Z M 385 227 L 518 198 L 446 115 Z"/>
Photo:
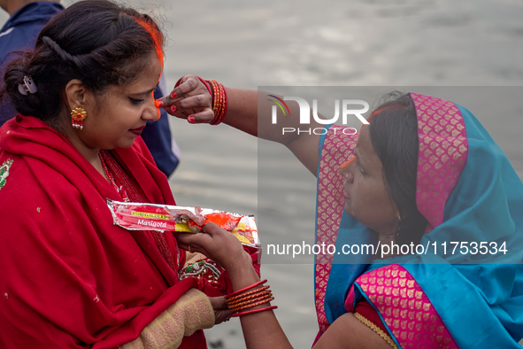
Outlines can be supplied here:
<path id="1" fill-rule="evenodd" d="M 317 278 L 327 275 L 323 279 L 329 280 L 324 287 L 325 283 L 316 283 L 320 329 L 365 300 L 379 313 L 398 347 L 519 347 L 517 342 L 523 336 L 519 265 L 523 184 L 471 112 L 435 97 L 411 93 L 409 98 L 415 107 L 419 136 L 416 206 L 427 220 L 419 244 L 429 250 L 427 254 L 419 250 L 421 253 L 376 260 L 371 265 L 336 260 L 342 255 L 331 260 L 332 256 L 320 256 L 326 260 L 317 264 Z M 401 105 L 392 102 L 374 112 L 377 122 L 371 119 L 371 138 L 378 136 L 373 132 L 381 121 L 377 118 L 394 118 L 398 109 Z M 320 227 L 321 204 L 340 197 L 337 183 L 332 190 L 321 183 L 333 169 L 325 159 L 329 153 L 333 157 L 338 153 L 338 148 L 328 146 L 335 140 L 332 136 L 322 140 L 319 241 L 326 240 L 330 229 Z M 381 159 L 384 169 L 386 161 L 398 159 Z M 404 220 L 409 220 L 408 213 L 400 215 L 399 221 Z M 411 221 L 410 227 L 416 224 L 419 222 Z M 375 244 L 371 231 L 346 212 L 339 225 L 334 238 L 338 248 Z M 401 223 L 396 234 L 402 234 Z M 458 249 L 452 253 L 454 242 Z M 329 272 L 322 273 L 324 270 Z"/>

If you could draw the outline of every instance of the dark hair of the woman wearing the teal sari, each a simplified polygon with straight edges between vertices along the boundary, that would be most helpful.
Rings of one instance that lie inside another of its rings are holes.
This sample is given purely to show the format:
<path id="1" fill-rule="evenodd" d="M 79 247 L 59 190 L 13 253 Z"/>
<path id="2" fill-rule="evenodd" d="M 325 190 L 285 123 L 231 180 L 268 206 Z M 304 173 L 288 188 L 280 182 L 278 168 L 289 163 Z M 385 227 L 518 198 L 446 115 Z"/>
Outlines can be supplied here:
<path id="1" fill-rule="evenodd" d="M 388 194 L 399 212 L 396 244 L 418 244 L 427 228 L 427 219 L 416 206 L 418 173 L 418 119 L 409 95 L 390 92 L 369 120 L 374 151 L 383 165 Z M 392 99 L 392 100 L 391 100 Z"/>

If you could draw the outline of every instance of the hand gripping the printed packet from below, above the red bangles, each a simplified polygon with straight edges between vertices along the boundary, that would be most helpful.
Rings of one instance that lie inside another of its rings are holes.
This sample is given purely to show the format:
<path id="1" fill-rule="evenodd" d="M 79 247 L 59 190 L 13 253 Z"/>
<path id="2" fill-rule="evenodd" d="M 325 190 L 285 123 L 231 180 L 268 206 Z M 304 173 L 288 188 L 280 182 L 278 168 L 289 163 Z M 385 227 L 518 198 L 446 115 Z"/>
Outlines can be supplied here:
<path id="1" fill-rule="evenodd" d="M 217 262 L 227 270 L 233 271 L 235 267 L 252 265 L 249 253 L 243 251 L 240 241 L 230 232 L 219 228 L 214 223 L 207 223 L 202 228 L 202 233 L 176 233 L 174 236 L 178 245 L 184 250 L 190 246 L 191 252 L 200 252 Z"/>

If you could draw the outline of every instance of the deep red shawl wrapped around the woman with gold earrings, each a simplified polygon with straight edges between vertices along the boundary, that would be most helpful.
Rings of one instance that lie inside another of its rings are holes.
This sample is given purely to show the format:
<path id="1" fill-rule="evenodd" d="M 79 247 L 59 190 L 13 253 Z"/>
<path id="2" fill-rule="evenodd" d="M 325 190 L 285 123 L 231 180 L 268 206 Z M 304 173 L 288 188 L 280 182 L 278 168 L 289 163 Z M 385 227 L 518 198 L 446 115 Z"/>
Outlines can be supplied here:
<path id="1" fill-rule="evenodd" d="M 150 203 L 175 204 L 140 137 L 112 155 Z M 17 116 L 0 128 L 1 164 L 0 348 L 114 348 L 198 288 L 179 281 L 185 252 L 172 234 L 174 268 L 151 232 L 112 224 L 105 199 L 119 194 L 42 120 Z M 180 347 L 205 348 L 203 331 Z"/>

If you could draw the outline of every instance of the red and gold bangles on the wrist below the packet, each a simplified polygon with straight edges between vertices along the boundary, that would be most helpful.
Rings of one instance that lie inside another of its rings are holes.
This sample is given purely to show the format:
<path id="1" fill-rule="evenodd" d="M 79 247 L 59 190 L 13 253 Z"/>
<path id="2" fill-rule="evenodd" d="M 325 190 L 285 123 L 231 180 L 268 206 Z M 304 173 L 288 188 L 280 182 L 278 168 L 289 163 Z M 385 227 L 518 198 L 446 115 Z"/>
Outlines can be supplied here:
<path id="1" fill-rule="evenodd" d="M 261 306 L 262 304 L 268 303 L 271 300 L 273 300 L 273 292 L 271 292 L 270 286 L 263 286 L 258 289 L 254 289 L 252 291 L 249 291 L 250 289 L 253 289 L 259 285 L 262 285 L 266 283 L 266 280 L 260 281 L 258 283 L 253 283 L 248 287 L 245 287 L 242 290 L 235 291 L 233 293 L 228 294 L 225 296 L 225 299 L 227 301 L 227 306 L 229 309 L 233 309 L 235 311 L 241 311 L 245 309 L 249 309 L 254 306 Z M 278 306 L 266 306 L 264 308 L 260 309 L 253 309 L 247 312 L 242 313 L 235 313 L 232 316 L 242 316 L 247 314 L 254 314 L 263 312 L 265 310 L 272 310 L 276 309 Z"/>

